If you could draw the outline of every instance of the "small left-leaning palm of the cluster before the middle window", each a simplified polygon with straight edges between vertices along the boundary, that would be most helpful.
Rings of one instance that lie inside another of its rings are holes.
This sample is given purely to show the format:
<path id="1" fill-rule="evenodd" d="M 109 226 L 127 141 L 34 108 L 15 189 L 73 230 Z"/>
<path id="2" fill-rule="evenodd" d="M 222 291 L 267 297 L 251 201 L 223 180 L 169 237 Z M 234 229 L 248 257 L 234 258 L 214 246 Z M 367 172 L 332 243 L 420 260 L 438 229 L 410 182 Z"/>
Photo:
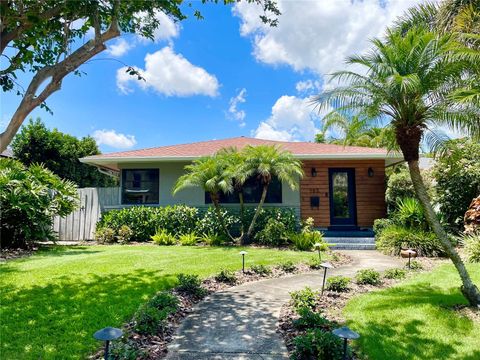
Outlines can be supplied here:
<path id="1" fill-rule="evenodd" d="M 173 194 L 189 187 L 200 187 L 210 195 L 215 212 L 225 234 L 233 241 L 220 208 L 220 195 L 233 191 L 232 178 L 227 171 L 228 163 L 222 157 L 205 156 L 185 166 L 186 174 L 182 175 L 175 186 Z"/>

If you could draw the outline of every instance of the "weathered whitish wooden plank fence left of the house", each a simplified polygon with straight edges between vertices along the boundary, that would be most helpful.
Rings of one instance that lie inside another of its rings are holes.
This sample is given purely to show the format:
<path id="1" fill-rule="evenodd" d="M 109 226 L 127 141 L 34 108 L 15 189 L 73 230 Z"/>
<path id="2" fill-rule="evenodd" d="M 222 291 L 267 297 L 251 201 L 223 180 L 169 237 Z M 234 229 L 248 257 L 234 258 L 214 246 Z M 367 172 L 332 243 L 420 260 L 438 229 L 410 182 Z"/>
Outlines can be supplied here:
<path id="1" fill-rule="evenodd" d="M 118 187 L 78 189 L 79 207 L 66 217 L 53 219 L 59 240 L 92 240 L 105 206 L 118 204 Z"/>

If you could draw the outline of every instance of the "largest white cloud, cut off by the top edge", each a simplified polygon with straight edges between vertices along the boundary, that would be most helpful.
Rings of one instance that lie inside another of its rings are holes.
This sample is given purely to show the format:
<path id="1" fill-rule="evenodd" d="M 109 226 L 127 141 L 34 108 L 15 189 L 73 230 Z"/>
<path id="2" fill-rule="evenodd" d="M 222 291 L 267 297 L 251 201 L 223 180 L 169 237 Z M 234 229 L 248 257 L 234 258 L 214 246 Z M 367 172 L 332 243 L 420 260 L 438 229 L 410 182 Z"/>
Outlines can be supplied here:
<path id="1" fill-rule="evenodd" d="M 251 36 L 253 54 L 261 62 L 289 65 L 296 71 L 331 73 L 349 55 L 368 49 L 368 40 L 382 36 L 387 25 L 420 0 L 279 0 L 277 27 L 263 25 L 262 9 L 237 3 L 240 32 Z"/>

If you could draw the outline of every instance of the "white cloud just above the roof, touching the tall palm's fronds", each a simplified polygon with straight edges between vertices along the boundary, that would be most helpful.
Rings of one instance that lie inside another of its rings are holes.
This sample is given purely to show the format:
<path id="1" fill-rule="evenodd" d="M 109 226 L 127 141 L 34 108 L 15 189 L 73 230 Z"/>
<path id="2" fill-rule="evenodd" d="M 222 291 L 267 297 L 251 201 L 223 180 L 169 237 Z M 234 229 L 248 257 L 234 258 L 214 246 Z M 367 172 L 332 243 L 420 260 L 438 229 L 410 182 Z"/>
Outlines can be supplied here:
<path id="1" fill-rule="evenodd" d="M 272 107 L 270 117 L 259 124 L 253 135 L 260 139 L 310 141 L 319 132 L 319 116 L 309 104 L 310 98 L 284 95 Z"/>

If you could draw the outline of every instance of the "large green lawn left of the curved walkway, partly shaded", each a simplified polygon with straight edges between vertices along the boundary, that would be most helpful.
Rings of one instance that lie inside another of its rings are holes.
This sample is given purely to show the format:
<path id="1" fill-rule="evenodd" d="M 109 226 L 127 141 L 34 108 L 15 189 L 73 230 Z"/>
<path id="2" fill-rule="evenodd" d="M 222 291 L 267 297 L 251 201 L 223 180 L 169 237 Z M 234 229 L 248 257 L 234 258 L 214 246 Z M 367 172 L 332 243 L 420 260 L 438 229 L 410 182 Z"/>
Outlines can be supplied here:
<path id="1" fill-rule="evenodd" d="M 175 274 L 207 277 L 241 268 L 238 247 L 54 247 L 0 264 L 0 357 L 79 359 L 98 348 L 92 334 L 120 327 Z M 248 251 L 246 265 L 307 260 L 312 253 Z"/>

